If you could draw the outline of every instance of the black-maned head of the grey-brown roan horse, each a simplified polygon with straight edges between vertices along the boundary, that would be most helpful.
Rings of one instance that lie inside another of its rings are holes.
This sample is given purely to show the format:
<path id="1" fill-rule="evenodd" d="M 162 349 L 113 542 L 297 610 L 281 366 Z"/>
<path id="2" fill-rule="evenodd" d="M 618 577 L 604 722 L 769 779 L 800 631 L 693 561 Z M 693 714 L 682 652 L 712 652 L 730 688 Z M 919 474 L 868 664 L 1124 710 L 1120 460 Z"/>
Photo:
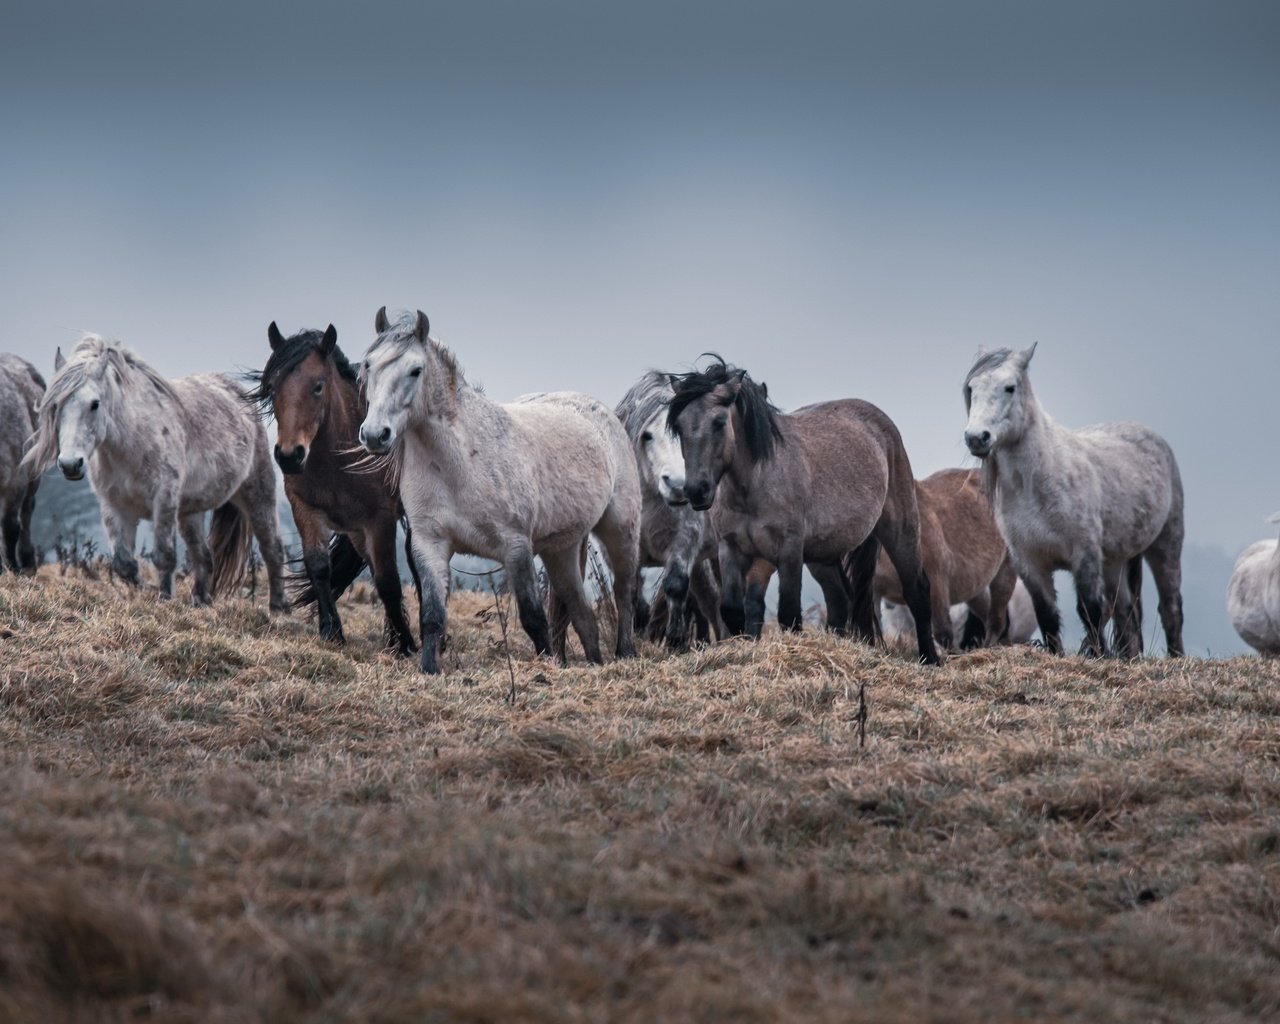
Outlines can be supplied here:
<path id="1" fill-rule="evenodd" d="M 741 448 L 750 462 L 773 458 L 782 443 L 778 411 L 764 384 L 714 356 L 705 370 L 672 374 L 667 425 L 685 456 L 685 497 L 698 511 L 716 500 L 716 486 Z"/>

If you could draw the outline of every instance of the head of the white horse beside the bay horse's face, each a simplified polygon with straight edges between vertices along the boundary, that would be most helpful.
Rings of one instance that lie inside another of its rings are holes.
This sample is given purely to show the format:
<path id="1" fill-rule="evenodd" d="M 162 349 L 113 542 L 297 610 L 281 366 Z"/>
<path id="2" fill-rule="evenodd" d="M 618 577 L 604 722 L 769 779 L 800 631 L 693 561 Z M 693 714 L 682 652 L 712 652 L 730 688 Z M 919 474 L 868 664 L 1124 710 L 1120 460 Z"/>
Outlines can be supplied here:
<path id="1" fill-rule="evenodd" d="M 392 324 L 383 306 L 374 317 L 378 340 L 369 347 L 361 367 L 369 411 L 360 425 L 360 443 L 374 454 L 389 452 L 404 434 L 426 384 L 430 326 L 421 310 L 416 317 L 406 314 Z"/>

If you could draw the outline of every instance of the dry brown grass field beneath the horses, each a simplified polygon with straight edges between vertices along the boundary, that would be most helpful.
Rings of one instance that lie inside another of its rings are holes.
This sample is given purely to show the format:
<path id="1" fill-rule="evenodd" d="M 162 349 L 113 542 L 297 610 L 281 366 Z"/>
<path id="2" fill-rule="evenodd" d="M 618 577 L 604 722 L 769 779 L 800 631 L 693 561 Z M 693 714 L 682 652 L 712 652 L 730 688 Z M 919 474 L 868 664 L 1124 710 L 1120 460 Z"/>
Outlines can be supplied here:
<path id="1" fill-rule="evenodd" d="M 344 616 L 0 577 L 0 1020 L 1280 1014 L 1275 662 Z"/>

